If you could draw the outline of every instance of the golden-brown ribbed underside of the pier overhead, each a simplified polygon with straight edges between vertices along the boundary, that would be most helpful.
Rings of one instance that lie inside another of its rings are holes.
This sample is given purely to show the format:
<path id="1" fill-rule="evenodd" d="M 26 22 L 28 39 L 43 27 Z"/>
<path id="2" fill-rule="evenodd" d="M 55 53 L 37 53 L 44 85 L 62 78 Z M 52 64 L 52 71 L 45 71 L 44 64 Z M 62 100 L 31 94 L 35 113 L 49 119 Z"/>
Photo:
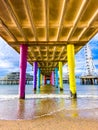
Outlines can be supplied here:
<path id="1" fill-rule="evenodd" d="M 98 0 L 0 0 L 0 36 L 43 74 L 67 62 L 66 45 L 77 53 L 98 32 Z"/>

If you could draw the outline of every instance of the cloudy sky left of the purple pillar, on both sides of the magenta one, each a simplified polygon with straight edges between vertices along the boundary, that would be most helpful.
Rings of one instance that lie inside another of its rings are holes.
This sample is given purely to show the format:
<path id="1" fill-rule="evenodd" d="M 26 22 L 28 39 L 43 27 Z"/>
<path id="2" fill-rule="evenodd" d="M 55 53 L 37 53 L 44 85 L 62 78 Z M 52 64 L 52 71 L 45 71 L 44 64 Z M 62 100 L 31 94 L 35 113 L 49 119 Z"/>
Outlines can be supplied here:
<path id="1" fill-rule="evenodd" d="M 0 77 L 10 72 L 19 72 L 19 54 L 0 38 Z M 28 63 L 27 71 L 31 72 L 31 65 Z"/>

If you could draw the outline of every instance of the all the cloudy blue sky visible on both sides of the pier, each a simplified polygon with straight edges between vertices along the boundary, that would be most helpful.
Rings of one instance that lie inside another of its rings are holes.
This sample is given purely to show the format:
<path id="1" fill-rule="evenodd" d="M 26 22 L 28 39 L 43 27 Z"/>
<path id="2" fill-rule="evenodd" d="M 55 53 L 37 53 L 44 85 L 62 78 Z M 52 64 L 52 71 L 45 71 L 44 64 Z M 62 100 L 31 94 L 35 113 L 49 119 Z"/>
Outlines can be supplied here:
<path id="1" fill-rule="evenodd" d="M 89 45 L 92 52 L 92 58 L 96 71 L 98 72 L 98 33 L 89 41 Z M 85 54 L 84 47 L 75 55 L 76 75 L 82 75 L 85 71 Z M 19 54 L 11 48 L 1 37 L 0 37 L 0 77 L 4 77 L 10 72 L 19 72 Z M 27 73 L 33 75 L 32 66 L 27 63 Z M 63 75 L 67 73 L 67 67 L 63 67 Z"/>

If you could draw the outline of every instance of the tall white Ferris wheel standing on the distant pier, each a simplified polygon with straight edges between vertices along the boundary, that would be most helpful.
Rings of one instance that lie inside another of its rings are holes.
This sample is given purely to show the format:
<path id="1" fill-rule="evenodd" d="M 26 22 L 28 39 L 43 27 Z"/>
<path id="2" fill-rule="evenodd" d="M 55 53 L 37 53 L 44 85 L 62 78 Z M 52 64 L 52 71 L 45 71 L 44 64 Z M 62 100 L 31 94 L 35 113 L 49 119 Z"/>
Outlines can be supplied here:
<path id="1" fill-rule="evenodd" d="M 84 48 L 85 51 L 85 72 L 80 77 L 81 84 L 98 84 L 98 75 L 93 63 L 92 53 L 89 44 Z"/>

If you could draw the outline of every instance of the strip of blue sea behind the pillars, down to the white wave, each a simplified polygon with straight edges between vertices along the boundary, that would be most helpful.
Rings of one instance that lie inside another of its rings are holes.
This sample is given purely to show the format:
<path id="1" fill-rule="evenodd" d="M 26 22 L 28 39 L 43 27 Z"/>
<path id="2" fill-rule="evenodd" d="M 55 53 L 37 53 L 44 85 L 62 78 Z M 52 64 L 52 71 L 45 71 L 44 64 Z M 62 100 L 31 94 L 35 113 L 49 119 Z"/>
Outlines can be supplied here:
<path id="1" fill-rule="evenodd" d="M 82 85 L 80 84 L 80 80 L 78 79 L 76 82 L 77 86 L 77 97 L 92 97 L 92 98 L 98 98 L 98 85 Z M 63 84 L 64 91 L 60 91 L 59 88 L 54 93 L 44 93 L 43 95 L 50 95 L 54 97 L 57 95 L 57 97 L 63 95 L 64 98 L 70 96 L 70 90 L 69 90 L 69 84 Z M 0 99 L 2 97 L 8 98 L 8 97 L 18 97 L 19 94 L 19 85 L 0 85 Z M 29 96 L 32 95 L 34 97 L 35 92 L 33 91 L 33 85 L 26 85 L 25 88 L 25 95 L 29 98 Z M 37 90 L 36 94 L 40 94 L 40 91 Z M 62 97 L 63 97 L 62 96 Z"/>

